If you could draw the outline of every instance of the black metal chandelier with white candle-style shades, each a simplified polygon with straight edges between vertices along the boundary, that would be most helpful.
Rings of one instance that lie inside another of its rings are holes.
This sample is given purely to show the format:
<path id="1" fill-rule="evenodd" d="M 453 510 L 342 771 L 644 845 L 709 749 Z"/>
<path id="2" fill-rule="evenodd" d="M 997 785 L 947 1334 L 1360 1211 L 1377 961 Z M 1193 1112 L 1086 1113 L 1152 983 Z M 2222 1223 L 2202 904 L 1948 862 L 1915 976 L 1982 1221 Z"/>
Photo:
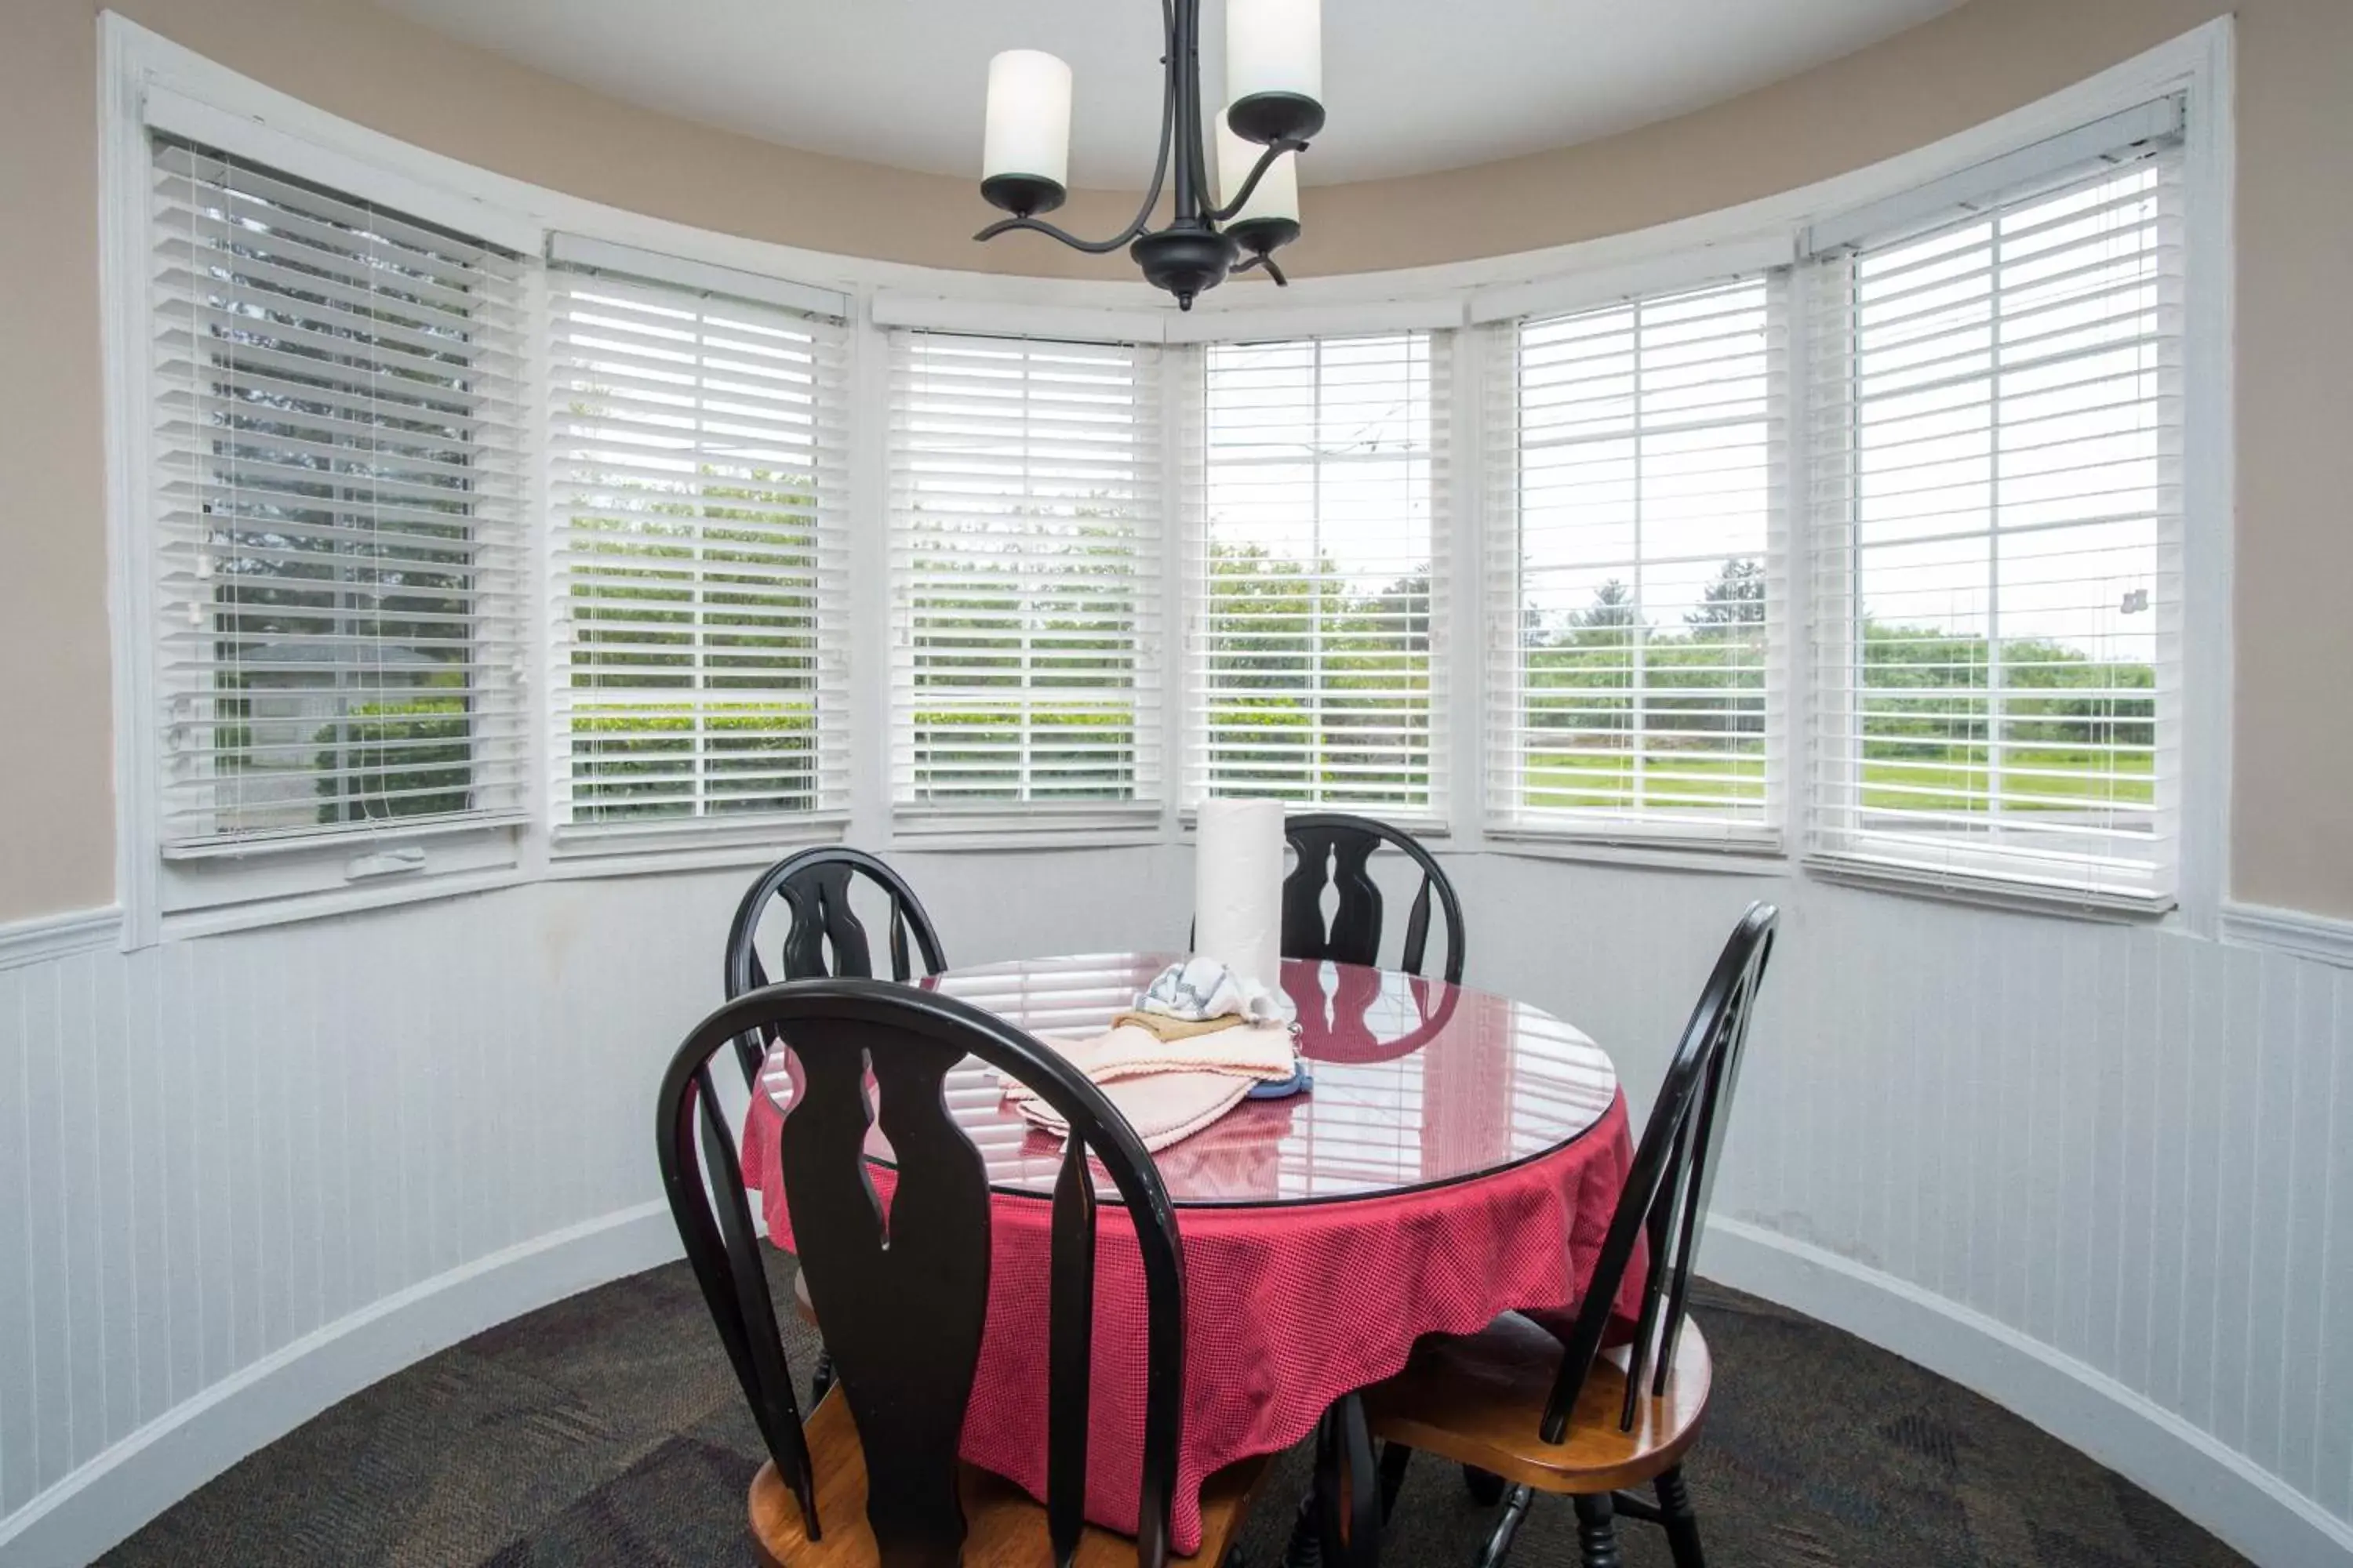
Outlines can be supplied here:
<path id="1" fill-rule="evenodd" d="M 988 132 L 981 195 L 1009 212 L 974 235 L 1031 230 L 1104 256 L 1127 244 L 1144 280 L 1193 308 L 1228 273 L 1266 268 L 1287 282 L 1275 252 L 1299 237 L 1299 169 L 1287 153 L 1322 129 L 1320 0 L 1226 0 L 1226 92 L 1217 120 L 1217 167 L 1226 190 L 1209 190 L 1200 115 L 1200 0 L 1160 0 L 1167 87 L 1160 101 L 1160 155 L 1134 221 L 1108 240 L 1080 240 L 1038 214 L 1071 195 L 1071 66 L 1040 49 L 1007 49 L 988 61 Z M 1169 221 L 1151 228 L 1160 190 L 1174 183 Z"/>

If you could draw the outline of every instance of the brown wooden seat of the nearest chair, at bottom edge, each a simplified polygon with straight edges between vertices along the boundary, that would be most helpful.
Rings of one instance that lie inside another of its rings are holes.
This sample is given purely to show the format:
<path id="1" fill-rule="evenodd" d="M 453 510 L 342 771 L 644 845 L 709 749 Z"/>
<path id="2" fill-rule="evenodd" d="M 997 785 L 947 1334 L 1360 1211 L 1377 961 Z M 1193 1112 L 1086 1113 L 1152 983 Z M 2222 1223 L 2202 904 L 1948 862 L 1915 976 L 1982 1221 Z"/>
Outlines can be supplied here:
<path id="1" fill-rule="evenodd" d="M 816 1519 L 824 1540 L 809 1540 L 793 1488 L 774 1465 L 762 1465 L 751 1481 L 751 1535 L 767 1568 L 873 1568 L 873 1530 L 866 1526 L 866 1453 L 840 1389 L 828 1392 L 809 1413 L 802 1432 L 809 1441 L 809 1467 L 816 1472 Z M 1228 1465 L 1200 1488 L 1200 1552 L 1169 1559 L 1217 1566 L 1226 1561 L 1249 1500 L 1266 1479 L 1273 1455 Z M 1033 1568 L 1052 1563 L 1045 1507 L 1005 1476 L 972 1465 L 962 1467 L 967 1568 Z M 1078 1544 L 1078 1568 L 1120 1568 L 1136 1561 L 1136 1542 L 1113 1530 L 1087 1526 Z"/>

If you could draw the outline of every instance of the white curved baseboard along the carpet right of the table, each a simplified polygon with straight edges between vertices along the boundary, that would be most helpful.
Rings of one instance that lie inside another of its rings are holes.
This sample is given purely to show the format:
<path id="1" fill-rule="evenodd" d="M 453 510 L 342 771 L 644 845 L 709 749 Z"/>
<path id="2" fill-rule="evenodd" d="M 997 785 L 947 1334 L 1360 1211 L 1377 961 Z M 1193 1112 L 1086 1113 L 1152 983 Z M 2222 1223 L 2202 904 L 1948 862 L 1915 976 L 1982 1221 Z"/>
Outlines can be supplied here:
<path id="1" fill-rule="evenodd" d="M 1741 1220 L 1711 1215 L 1701 1255 L 1708 1279 L 1845 1328 L 2017 1410 L 2264 1568 L 2353 1566 L 2353 1526 L 2172 1410 L 2007 1324 Z"/>

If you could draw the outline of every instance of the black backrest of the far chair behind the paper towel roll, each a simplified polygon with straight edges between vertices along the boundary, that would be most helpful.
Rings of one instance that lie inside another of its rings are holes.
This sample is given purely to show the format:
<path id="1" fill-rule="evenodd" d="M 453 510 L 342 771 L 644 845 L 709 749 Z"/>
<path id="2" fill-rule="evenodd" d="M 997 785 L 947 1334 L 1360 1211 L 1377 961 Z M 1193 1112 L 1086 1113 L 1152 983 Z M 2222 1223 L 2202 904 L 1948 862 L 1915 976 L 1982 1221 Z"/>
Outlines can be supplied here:
<path id="1" fill-rule="evenodd" d="M 1405 969 L 1424 973 L 1431 950 L 1431 900 L 1447 924 L 1449 985 L 1464 978 L 1464 907 L 1454 884 L 1414 835 L 1369 816 L 1311 811 L 1282 825 L 1299 853 L 1299 865 L 1282 879 L 1282 957 L 1332 959 L 1337 964 L 1381 961 L 1381 889 L 1372 879 L 1372 853 L 1381 844 L 1402 849 L 1421 867 L 1421 891 L 1405 917 Z M 1325 919 L 1325 886 L 1339 891 L 1332 919 Z"/>

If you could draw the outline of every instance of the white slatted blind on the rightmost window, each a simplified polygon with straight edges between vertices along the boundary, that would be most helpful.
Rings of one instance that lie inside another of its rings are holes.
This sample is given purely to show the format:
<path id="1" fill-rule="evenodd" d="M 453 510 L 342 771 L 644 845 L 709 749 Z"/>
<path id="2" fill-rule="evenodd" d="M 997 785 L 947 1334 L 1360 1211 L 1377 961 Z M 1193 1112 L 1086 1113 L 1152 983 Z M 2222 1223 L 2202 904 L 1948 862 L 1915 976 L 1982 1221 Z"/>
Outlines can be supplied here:
<path id="1" fill-rule="evenodd" d="M 2165 903 L 2179 150 L 1812 268 L 1812 851 Z"/>

